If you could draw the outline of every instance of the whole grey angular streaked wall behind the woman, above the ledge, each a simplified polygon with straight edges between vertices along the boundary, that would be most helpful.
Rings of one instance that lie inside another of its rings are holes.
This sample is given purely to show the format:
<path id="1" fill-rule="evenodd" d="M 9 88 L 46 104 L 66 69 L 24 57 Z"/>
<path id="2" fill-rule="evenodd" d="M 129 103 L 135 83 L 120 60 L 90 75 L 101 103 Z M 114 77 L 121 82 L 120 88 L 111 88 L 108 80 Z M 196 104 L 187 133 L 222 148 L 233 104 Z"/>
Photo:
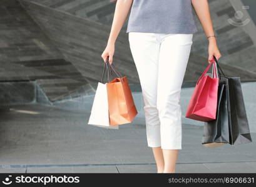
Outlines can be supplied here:
<path id="1" fill-rule="evenodd" d="M 32 94 L 30 82 L 39 86 L 45 95 L 44 102 L 49 103 L 95 92 L 103 70 L 101 53 L 110 33 L 115 3 L 109 0 L 1 0 L 0 3 L 0 103 L 22 102 L 15 97 L 23 93 L 24 102 L 32 101 L 33 95 L 28 97 Z M 209 3 L 223 70 L 228 75 L 240 76 L 242 81 L 255 81 L 256 2 L 210 0 Z M 196 16 L 195 21 L 198 32 L 193 37 L 184 84 L 195 82 L 207 65 L 208 41 Z M 138 84 L 126 24 L 127 20 L 116 42 L 113 63 L 131 84 Z M 16 88 L 21 85 L 15 95 L 10 84 L 16 84 Z"/>

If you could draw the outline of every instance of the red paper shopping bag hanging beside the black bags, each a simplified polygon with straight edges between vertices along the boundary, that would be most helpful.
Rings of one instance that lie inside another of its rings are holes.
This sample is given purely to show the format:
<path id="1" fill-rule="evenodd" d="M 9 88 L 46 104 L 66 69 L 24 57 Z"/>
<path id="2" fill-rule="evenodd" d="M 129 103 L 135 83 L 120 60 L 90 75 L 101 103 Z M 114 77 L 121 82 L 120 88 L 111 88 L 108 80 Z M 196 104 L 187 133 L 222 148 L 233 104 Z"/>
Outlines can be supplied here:
<path id="1" fill-rule="evenodd" d="M 211 65 L 212 77 L 206 74 Z M 218 75 L 216 63 L 212 60 L 197 80 L 185 117 L 202 122 L 214 120 L 217 112 L 217 97 Z"/>

